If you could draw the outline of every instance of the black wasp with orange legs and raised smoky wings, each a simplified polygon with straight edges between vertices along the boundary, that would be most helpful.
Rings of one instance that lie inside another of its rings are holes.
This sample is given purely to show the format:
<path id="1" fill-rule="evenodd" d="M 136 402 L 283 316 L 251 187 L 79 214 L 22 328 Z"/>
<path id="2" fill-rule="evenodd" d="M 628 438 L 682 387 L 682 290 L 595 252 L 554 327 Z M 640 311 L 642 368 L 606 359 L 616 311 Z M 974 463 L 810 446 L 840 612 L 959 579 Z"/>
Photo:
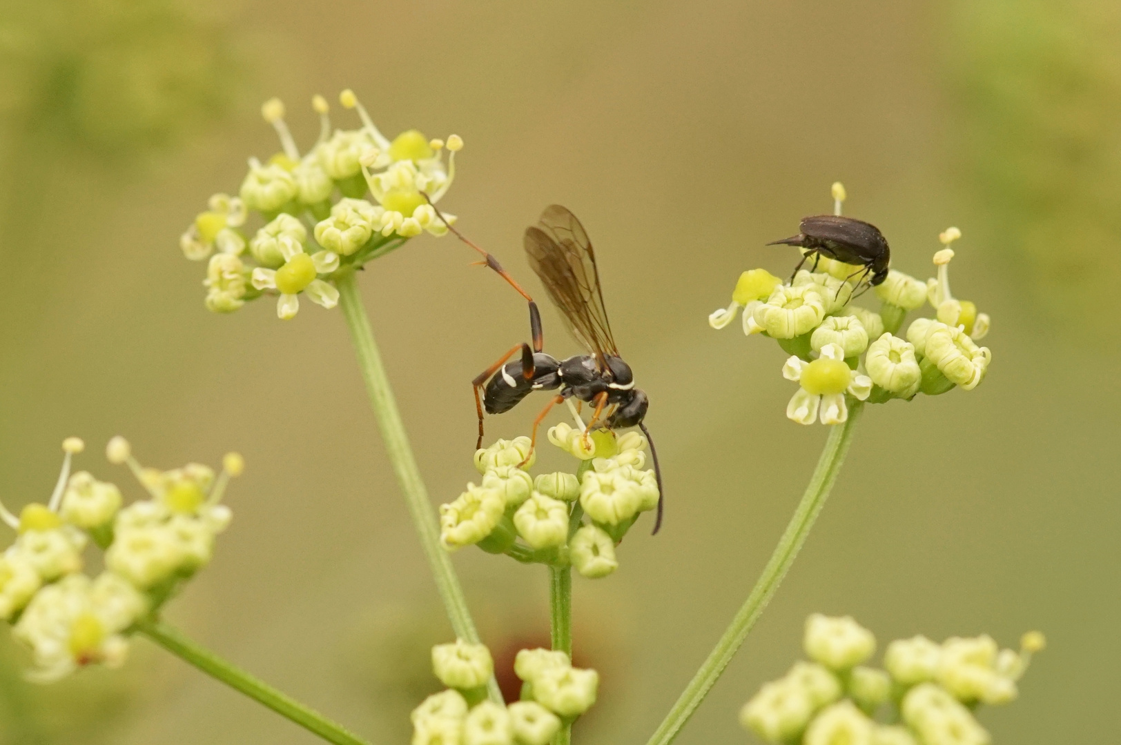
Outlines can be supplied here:
<path id="1" fill-rule="evenodd" d="M 438 211 L 436 214 L 443 220 Z M 447 221 L 444 223 L 447 224 Z M 532 346 L 525 342 L 515 344 L 471 381 L 475 410 L 479 413 L 479 440 L 475 447 L 482 447 L 484 411 L 491 415 L 509 411 L 532 391 L 556 393 L 534 420 L 530 453 L 537 445 L 537 429 L 545 417 L 558 403 L 572 406 L 572 399 L 594 407 L 592 420 L 584 428 L 585 443 L 589 434 L 596 427 L 612 430 L 638 427 L 650 444 L 650 456 L 658 481 L 658 511 L 654 523 L 654 533 L 657 533 L 661 527 L 665 493 L 658 454 L 650 430 L 643 422 L 650 400 L 641 389 L 634 387 L 634 374 L 630 365 L 619 356 L 603 305 L 595 251 L 584 226 L 566 207 L 554 204 L 545 208 L 536 225 L 526 229 L 524 238 L 529 264 L 560 310 L 572 335 L 586 351 L 586 354 L 564 360 L 557 360 L 543 351 L 545 339 L 541 316 L 534 298 L 492 254 L 472 243 L 452 225 L 447 227 L 483 255 L 483 261 L 479 263 L 494 270 L 529 304 Z M 526 458 L 528 460 L 529 456 Z"/>

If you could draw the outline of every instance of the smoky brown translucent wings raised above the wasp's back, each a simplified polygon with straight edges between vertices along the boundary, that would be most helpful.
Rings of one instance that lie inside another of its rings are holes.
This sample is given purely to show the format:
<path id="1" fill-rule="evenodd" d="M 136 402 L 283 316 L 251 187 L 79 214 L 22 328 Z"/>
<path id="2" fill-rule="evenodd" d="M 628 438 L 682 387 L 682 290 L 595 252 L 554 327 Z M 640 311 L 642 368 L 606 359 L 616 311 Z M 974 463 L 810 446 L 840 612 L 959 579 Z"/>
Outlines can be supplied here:
<path id="1" fill-rule="evenodd" d="M 604 355 L 618 355 L 600 289 L 600 271 L 587 232 L 576 215 L 549 205 L 526 229 L 526 254 L 553 302 L 564 314 L 576 341 L 605 369 Z"/>

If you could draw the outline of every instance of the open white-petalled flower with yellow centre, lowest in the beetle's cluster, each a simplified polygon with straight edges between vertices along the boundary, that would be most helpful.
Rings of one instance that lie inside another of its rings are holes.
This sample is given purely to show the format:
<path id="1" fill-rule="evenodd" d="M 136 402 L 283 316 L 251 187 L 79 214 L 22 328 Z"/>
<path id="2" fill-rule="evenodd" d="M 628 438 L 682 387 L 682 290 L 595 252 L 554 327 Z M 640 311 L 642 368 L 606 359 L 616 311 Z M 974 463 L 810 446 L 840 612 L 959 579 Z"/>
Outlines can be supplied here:
<path id="1" fill-rule="evenodd" d="M 823 425 L 842 423 L 849 418 L 845 392 L 861 401 L 872 392 L 872 381 L 849 367 L 836 344 L 823 346 L 813 362 L 791 356 L 782 365 L 782 376 L 800 385 L 786 407 L 787 418 L 799 425 L 817 421 L 818 411 Z"/>

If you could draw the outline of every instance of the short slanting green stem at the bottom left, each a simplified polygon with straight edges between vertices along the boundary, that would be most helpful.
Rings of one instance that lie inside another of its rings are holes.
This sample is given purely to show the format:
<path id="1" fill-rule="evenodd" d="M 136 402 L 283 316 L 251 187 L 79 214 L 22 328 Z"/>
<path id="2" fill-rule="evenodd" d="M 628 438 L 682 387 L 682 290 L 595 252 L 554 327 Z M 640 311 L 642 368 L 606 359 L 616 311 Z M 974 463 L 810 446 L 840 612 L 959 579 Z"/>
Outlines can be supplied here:
<path id="1" fill-rule="evenodd" d="M 195 665 L 207 676 L 221 680 L 226 686 L 239 690 L 258 704 L 267 706 L 282 717 L 295 721 L 300 727 L 315 733 L 328 743 L 335 745 L 370 745 L 342 726 L 331 721 L 322 714 L 309 709 L 299 701 L 285 696 L 262 680 L 258 680 L 244 670 L 235 668 L 210 650 L 194 643 L 175 628 L 159 621 L 141 621 L 137 631 L 165 650 Z"/>

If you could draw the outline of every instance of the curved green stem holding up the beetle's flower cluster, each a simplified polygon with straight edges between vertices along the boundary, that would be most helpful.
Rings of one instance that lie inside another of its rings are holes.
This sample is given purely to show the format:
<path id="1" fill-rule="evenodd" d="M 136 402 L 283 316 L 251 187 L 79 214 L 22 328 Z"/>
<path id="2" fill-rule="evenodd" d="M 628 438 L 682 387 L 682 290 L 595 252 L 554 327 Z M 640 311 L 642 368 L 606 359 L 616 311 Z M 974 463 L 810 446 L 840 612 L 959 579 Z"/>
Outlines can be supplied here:
<path id="1" fill-rule="evenodd" d="M 668 745 L 668 743 L 674 742 L 682 727 L 689 720 L 696 708 L 701 706 L 701 701 L 724 672 L 728 663 L 732 661 L 751 627 L 756 625 L 756 621 L 762 615 L 763 608 L 767 607 L 775 590 L 786 577 L 795 557 L 798 556 L 798 550 L 806 542 L 806 537 L 825 505 L 825 500 L 828 499 L 837 473 L 841 471 L 841 464 L 844 462 L 845 453 L 849 450 L 852 430 L 863 409 L 862 401 L 849 399 L 849 419 L 844 425 L 831 428 L 832 431 L 830 431 L 830 437 L 825 443 L 825 449 L 822 450 L 814 475 L 806 486 L 806 493 L 802 496 L 797 510 L 794 511 L 794 516 L 790 518 L 786 532 L 782 533 L 778 546 L 775 547 L 770 560 L 759 579 L 756 580 L 751 594 L 748 595 L 748 599 L 732 618 L 731 625 L 716 642 L 716 646 L 708 653 L 708 658 L 701 665 L 701 669 L 693 676 L 693 680 L 686 686 L 669 714 L 658 725 L 658 729 L 655 730 L 647 745 Z"/>

